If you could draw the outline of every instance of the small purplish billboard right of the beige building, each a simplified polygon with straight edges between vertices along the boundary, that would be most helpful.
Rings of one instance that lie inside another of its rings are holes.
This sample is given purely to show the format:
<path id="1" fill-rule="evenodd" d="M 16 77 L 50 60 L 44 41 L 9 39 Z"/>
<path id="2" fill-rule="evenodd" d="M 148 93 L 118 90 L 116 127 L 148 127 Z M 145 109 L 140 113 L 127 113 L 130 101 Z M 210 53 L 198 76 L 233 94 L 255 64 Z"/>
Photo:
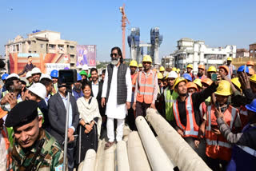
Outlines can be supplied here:
<path id="1" fill-rule="evenodd" d="M 96 45 L 77 46 L 77 68 L 85 64 L 90 68 L 96 67 Z"/>

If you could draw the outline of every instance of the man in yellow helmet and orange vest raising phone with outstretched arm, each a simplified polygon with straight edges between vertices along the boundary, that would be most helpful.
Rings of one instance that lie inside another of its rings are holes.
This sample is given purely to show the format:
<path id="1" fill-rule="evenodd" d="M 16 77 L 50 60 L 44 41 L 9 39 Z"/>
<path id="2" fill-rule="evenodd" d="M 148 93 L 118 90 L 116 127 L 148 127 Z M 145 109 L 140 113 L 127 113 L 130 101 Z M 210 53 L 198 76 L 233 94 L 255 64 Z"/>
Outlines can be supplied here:
<path id="1" fill-rule="evenodd" d="M 187 92 L 187 81 L 185 78 L 177 78 L 174 83 L 174 90 L 178 93 L 178 98 L 173 104 L 174 128 L 202 159 L 206 159 L 203 145 L 198 149 L 194 145 L 194 140 L 198 139 L 198 125 L 201 124 L 199 105 L 205 101 L 210 94 L 215 92 L 219 80 L 220 76 L 218 75 L 218 81 L 211 84 L 202 92 L 192 94 Z"/>

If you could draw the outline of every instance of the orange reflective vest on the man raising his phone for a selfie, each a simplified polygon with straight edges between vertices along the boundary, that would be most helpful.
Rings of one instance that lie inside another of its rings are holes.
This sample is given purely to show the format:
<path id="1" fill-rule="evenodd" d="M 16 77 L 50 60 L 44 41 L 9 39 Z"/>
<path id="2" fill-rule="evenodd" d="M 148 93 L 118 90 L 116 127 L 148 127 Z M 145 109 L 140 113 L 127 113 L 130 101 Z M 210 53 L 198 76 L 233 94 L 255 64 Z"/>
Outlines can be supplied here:
<path id="1" fill-rule="evenodd" d="M 173 104 L 174 117 L 179 129 L 183 131 L 183 137 L 198 137 L 198 124 L 194 117 L 194 107 L 191 95 L 186 98 L 186 126 L 182 125 L 180 115 L 178 112 L 178 100 Z"/>

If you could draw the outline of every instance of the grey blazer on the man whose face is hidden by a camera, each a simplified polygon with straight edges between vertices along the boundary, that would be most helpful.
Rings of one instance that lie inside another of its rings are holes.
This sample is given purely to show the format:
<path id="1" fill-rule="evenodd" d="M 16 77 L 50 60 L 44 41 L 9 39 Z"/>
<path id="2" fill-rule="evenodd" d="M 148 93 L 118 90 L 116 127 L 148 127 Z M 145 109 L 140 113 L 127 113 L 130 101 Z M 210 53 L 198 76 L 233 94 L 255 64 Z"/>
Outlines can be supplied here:
<path id="1" fill-rule="evenodd" d="M 78 105 L 74 96 L 70 95 L 70 104 L 72 106 L 72 126 L 77 129 L 79 123 Z M 65 139 L 65 125 L 66 125 L 66 108 L 59 93 L 54 94 L 48 101 L 49 106 L 49 121 L 50 134 L 62 145 Z"/>

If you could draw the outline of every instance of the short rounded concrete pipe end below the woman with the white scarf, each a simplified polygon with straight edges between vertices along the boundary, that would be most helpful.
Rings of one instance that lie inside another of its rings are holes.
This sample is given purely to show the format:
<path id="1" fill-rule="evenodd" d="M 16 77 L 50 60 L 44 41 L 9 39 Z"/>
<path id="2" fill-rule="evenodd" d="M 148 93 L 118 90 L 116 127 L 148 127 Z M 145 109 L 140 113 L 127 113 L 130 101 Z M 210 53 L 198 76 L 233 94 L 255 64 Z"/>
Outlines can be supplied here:
<path id="1" fill-rule="evenodd" d="M 96 161 L 96 152 L 94 149 L 88 149 L 82 166 L 82 171 L 94 171 Z"/>

